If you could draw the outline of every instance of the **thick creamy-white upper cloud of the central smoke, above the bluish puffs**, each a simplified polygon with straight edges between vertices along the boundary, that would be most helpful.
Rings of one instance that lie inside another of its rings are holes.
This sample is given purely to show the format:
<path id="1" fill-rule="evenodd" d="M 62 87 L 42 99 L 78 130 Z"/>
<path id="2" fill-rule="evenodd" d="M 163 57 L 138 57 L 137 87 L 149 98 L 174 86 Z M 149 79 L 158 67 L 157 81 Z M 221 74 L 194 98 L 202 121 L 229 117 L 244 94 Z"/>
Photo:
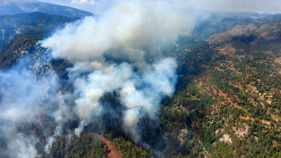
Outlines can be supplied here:
<path id="1" fill-rule="evenodd" d="M 84 20 L 67 25 L 44 40 L 42 46 L 53 50 L 54 58 L 77 61 L 103 61 L 110 48 L 131 48 L 122 55 L 138 60 L 141 46 L 156 42 L 175 41 L 185 27 L 183 15 L 171 11 L 169 4 L 155 1 L 119 2 L 96 20 Z M 141 59 L 139 59 L 141 60 Z"/>

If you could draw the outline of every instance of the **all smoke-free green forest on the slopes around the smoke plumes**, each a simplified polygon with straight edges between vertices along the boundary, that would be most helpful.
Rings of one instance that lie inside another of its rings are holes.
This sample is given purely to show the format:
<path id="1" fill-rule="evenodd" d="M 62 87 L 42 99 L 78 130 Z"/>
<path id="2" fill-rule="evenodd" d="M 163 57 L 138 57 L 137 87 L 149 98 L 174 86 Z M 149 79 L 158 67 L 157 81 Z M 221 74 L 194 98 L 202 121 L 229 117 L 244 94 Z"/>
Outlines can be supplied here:
<path id="1" fill-rule="evenodd" d="M 34 55 L 37 42 L 48 37 L 55 27 L 78 20 L 35 13 L 29 16 L 30 20 L 25 20 L 25 15 L 3 15 L 0 24 L 15 18 L 23 19 L 18 24 L 23 31 L 0 42 L 1 69 L 16 65 L 24 58 L 22 51 Z M 34 21 L 48 23 L 48 27 L 34 24 L 27 29 Z M 176 59 L 178 78 L 174 96 L 161 101 L 158 119 L 142 117 L 138 122 L 141 140 L 133 140 L 124 132 L 120 122 L 124 107 L 117 92 L 105 93 L 100 103 L 108 112 L 87 124 L 79 136 L 73 132 L 79 126 L 77 115 L 64 126 L 72 132 L 64 130 L 61 136 L 55 136 L 53 120 L 46 115 L 41 124 L 51 124 L 49 131 L 44 131 L 39 123 L 30 123 L 26 125 L 31 129 L 27 136 L 34 134 L 39 138 L 34 147 L 44 158 L 107 157 L 110 150 L 96 133 L 110 140 L 122 157 L 128 158 L 281 157 L 280 21 L 280 15 L 257 20 L 204 21 L 190 35 L 179 36 L 176 44 L 164 50 L 146 48 L 156 50 L 159 57 Z M 150 56 L 145 57 L 150 61 Z M 59 74 L 61 93 L 74 92 L 67 73 L 72 64 L 61 58 L 50 62 Z M 17 130 L 27 127 L 20 125 Z M 51 136 L 53 142 L 48 143 Z M 0 143 L 0 148 L 7 147 Z"/>

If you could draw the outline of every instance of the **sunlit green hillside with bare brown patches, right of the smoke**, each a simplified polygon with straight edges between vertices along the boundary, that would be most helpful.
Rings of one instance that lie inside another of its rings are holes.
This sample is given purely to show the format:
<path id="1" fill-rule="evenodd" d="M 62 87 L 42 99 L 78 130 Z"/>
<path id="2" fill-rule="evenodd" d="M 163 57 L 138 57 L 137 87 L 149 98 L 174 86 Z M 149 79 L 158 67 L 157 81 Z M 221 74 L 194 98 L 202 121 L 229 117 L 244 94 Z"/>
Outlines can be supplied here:
<path id="1" fill-rule="evenodd" d="M 221 27 L 235 25 L 197 46 L 178 44 L 184 84 L 162 107 L 163 126 L 179 141 L 173 153 L 280 157 L 280 16 L 267 20 L 225 19 Z"/>

